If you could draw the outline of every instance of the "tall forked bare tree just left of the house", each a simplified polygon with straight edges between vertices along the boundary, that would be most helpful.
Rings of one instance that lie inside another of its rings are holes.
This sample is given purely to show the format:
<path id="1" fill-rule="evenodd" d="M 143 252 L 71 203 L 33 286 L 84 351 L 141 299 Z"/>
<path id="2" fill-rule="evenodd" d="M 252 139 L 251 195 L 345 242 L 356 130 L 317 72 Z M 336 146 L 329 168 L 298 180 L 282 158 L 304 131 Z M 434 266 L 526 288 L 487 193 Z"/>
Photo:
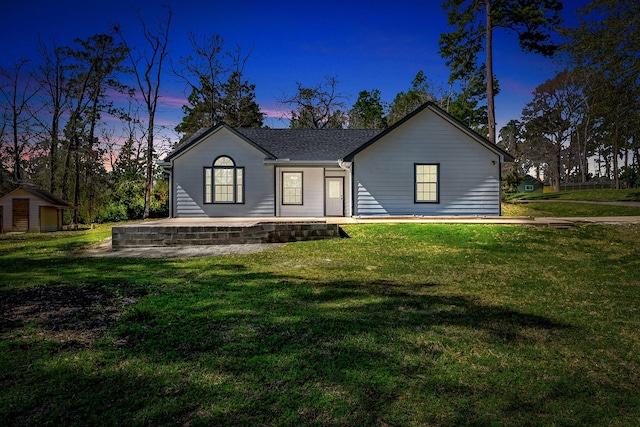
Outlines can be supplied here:
<path id="1" fill-rule="evenodd" d="M 136 55 L 133 50 L 129 49 L 129 59 L 133 66 L 136 76 L 136 84 L 142 95 L 144 105 L 147 109 L 147 159 L 146 159 L 146 182 L 144 193 L 144 219 L 149 218 L 149 210 L 151 207 L 151 190 L 153 188 L 153 159 L 154 147 L 153 138 L 155 136 L 155 116 L 158 108 L 158 100 L 160 99 L 160 83 L 162 80 L 162 67 L 169 52 L 167 45 L 169 44 L 169 28 L 171 27 L 172 11 L 169 6 L 163 6 L 165 14 L 159 18 L 158 26 L 155 29 L 149 28 L 145 23 L 140 11 L 138 11 L 138 20 L 142 25 L 144 39 L 147 42 L 148 50 L 138 52 Z M 122 41 L 128 47 L 124 36 L 119 27 L 116 31 L 120 34 Z"/>

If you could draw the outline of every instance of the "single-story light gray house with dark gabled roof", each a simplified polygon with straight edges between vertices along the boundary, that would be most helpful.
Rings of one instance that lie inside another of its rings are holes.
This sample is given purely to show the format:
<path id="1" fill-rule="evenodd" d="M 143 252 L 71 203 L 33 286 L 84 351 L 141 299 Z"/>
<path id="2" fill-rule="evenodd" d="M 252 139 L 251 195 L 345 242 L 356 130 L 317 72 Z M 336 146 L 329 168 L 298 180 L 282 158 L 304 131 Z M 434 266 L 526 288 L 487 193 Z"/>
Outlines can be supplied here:
<path id="1" fill-rule="evenodd" d="M 380 130 L 222 123 L 160 163 L 171 217 L 500 215 L 513 158 L 433 103 Z"/>

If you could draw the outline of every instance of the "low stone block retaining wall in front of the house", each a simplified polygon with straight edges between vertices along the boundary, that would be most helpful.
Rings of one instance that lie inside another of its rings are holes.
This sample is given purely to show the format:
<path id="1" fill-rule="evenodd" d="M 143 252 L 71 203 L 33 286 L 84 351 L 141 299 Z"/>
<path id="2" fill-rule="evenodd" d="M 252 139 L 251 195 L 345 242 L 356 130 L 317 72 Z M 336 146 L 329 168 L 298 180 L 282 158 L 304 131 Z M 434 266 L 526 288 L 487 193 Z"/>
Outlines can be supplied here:
<path id="1" fill-rule="evenodd" d="M 113 227 L 113 249 L 143 246 L 230 245 L 286 243 L 340 237 L 337 224 L 265 223 L 241 226 L 153 226 Z"/>

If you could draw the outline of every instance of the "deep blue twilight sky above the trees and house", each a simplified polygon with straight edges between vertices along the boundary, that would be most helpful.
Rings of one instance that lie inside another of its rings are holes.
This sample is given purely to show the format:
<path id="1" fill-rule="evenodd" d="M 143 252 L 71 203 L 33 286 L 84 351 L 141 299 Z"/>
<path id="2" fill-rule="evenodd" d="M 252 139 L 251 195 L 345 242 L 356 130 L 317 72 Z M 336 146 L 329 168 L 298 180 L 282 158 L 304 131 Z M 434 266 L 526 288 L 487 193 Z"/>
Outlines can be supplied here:
<path id="1" fill-rule="evenodd" d="M 569 23 L 587 0 L 563 2 Z M 173 10 L 170 56 L 177 62 L 189 54 L 187 36 L 220 34 L 228 49 L 254 47 L 245 77 L 256 85 L 256 98 L 268 117 L 265 124 L 285 127 L 277 100 L 295 93 L 296 82 L 315 86 L 335 76 L 338 89 L 353 103 L 361 90 L 379 89 L 391 102 L 406 91 L 419 70 L 436 85 L 446 85 L 449 70 L 438 54 L 438 40 L 451 31 L 440 0 L 192 1 L 192 0 L 2 0 L 0 65 L 10 68 L 20 58 L 35 58 L 37 39 L 71 45 L 107 32 L 118 23 L 130 45 L 138 44 L 140 24 L 132 5 L 153 25 L 160 4 Z M 498 129 L 519 118 L 534 88 L 556 74 L 557 66 L 539 55 L 524 54 L 517 40 L 498 30 L 494 36 L 494 72 L 500 82 L 496 97 Z M 186 103 L 184 84 L 167 75 L 159 110 L 161 124 L 173 128 Z"/>

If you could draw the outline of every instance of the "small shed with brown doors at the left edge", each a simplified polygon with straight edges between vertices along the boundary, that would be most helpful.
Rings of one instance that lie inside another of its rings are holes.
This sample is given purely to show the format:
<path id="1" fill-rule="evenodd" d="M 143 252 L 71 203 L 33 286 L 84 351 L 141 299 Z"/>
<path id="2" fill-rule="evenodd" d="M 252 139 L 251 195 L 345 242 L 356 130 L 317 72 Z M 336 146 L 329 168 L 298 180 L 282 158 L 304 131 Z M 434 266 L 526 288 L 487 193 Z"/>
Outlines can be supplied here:
<path id="1" fill-rule="evenodd" d="M 0 198 L 0 231 L 62 230 L 62 213 L 75 209 L 48 191 L 20 187 Z"/>

